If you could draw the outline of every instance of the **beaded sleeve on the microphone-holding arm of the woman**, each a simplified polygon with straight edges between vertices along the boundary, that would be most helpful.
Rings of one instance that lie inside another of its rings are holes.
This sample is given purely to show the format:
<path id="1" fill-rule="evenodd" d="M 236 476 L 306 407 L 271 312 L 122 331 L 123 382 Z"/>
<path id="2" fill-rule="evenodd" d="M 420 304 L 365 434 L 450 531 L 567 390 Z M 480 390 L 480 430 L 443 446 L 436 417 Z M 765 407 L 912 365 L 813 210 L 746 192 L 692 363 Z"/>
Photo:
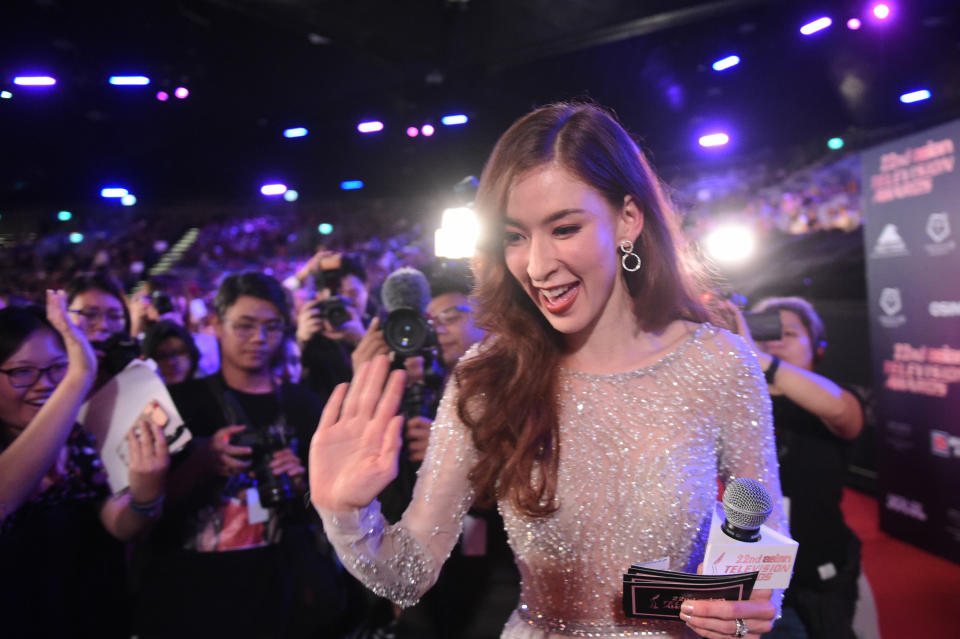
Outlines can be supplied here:
<path id="1" fill-rule="evenodd" d="M 729 354 L 729 373 L 719 389 L 720 410 L 717 468 L 726 486 L 738 477 L 763 484 L 773 498 L 767 526 L 787 536 L 790 528 L 780 490 L 780 465 L 773 434 L 773 408 L 756 356 L 738 335 L 721 333 Z M 779 616 L 783 591 L 771 599 Z"/>

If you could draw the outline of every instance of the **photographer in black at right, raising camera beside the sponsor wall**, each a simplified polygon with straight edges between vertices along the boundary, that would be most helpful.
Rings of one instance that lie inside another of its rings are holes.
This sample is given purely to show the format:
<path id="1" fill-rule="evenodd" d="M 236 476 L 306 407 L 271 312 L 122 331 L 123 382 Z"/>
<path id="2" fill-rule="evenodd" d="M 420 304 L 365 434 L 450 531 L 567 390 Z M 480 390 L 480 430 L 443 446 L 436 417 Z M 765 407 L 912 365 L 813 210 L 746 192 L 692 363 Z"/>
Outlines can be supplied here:
<path id="1" fill-rule="evenodd" d="M 809 302 L 781 297 L 755 306 L 755 313 L 779 319 L 779 338 L 757 335 L 757 326 L 748 327 L 731 308 L 767 379 L 780 481 L 790 531 L 800 544 L 783 619 L 765 636 L 853 638 L 860 540 L 844 522 L 840 500 L 850 444 L 863 429 L 863 406 L 852 392 L 814 372 L 827 341 Z"/>

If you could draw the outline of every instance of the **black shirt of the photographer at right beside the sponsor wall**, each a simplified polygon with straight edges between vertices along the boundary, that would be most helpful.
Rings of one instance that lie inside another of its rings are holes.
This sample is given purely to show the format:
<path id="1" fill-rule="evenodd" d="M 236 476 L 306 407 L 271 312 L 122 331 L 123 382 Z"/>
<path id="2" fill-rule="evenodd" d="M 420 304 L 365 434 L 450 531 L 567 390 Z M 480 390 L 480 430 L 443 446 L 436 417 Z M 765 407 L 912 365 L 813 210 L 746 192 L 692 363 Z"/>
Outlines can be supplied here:
<path id="1" fill-rule="evenodd" d="M 790 532 L 800 544 L 791 583 L 818 587 L 825 583 L 820 566 L 833 564 L 839 572 L 849 561 L 854 534 L 840 500 L 851 446 L 790 399 L 772 400 L 780 482 L 790 498 Z"/>

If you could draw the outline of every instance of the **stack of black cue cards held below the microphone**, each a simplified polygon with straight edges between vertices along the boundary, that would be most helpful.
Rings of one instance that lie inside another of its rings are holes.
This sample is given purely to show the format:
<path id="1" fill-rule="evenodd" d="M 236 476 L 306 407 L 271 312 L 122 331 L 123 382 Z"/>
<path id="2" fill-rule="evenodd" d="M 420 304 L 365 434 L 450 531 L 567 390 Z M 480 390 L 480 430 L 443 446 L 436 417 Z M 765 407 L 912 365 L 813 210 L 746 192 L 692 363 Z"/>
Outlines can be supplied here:
<path id="1" fill-rule="evenodd" d="M 633 565 L 623 576 L 623 612 L 628 617 L 679 619 L 685 599 L 749 599 L 758 574 L 689 575 Z"/>

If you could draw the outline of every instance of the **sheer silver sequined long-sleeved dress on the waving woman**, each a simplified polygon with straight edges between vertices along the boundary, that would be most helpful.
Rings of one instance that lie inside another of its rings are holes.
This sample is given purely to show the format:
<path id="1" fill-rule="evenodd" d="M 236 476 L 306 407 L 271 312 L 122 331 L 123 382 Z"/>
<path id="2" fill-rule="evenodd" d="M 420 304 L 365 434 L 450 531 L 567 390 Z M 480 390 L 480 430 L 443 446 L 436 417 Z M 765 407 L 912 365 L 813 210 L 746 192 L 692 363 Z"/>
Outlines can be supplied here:
<path id="1" fill-rule="evenodd" d="M 624 617 L 622 575 L 661 558 L 671 570 L 696 571 L 718 478 L 757 479 L 780 503 L 770 398 L 756 358 L 739 337 L 704 324 L 651 366 L 562 370 L 559 387 L 559 510 L 531 518 L 499 504 L 523 582 L 502 636 L 692 636 L 679 622 Z M 433 584 L 474 497 L 467 473 L 476 451 L 455 395 L 451 384 L 400 522 L 386 524 L 376 501 L 320 513 L 347 569 L 404 606 Z M 787 531 L 783 517 L 768 524 Z"/>

